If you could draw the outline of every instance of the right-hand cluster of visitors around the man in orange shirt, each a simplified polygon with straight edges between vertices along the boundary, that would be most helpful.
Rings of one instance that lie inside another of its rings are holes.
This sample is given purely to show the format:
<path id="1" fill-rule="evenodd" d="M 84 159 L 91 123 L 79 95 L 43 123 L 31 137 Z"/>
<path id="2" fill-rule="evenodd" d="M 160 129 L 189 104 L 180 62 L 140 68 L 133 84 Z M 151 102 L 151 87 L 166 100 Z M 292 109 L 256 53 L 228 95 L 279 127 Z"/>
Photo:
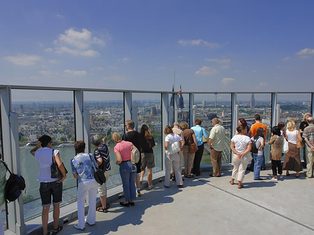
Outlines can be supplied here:
<path id="1" fill-rule="evenodd" d="M 314 120 L 311 114 L 304 114 L 304 120 L 300 123 L 297 130 L 297 119 L 290 119 L 285 128 L 285 123 L 280 122 L 277 126 L 271 128 L 271 138 L 269 145 L 271 146 L 270 160 L 273 177 L 271 180 L 278 181 L 283 179 L 283 170 L 286 176 L 290 176 L 290 171 L 296 172 L 295 176 L 299 177 L 299 172 L 303 170 L 299 149 L 304 149 L 304 162 L 307 162 L 307 172 L 304 174 L 307 178 L 313 177 L 313 151 L 314 151 Z M 230 149 L 232 150 L 232 179 L 230 184 L 234 184 L 234 180 L 238 181 L 238 188 L 244 188 L 242 181 L 246 167 L 251 159 L 251 167 L 254 171 L 254 180 L 262 180 L 260 178 L 260 170 L 263 169 L 264 151 L 263 147 L 267 137 L 267 127 L 260 121 L 260 115 L 255 114 L 255 124 L 250 128 L 244 119 L 239 119 L 237 133 L 232 137 Z M 288 151 L 285 153 L 285 160 L 281 165 L 281 159 L 284 155 L 283 145 L 287 142 Z M 253 149 L 256 151 L 253 152 Z"/>

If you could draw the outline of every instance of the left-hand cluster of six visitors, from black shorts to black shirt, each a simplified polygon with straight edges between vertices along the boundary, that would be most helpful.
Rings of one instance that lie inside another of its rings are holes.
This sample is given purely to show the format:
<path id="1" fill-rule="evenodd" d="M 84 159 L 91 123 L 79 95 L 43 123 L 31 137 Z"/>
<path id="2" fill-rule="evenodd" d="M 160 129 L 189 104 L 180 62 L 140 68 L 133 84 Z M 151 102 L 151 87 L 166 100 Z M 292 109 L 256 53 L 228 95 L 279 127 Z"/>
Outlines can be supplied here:
<path id="1" fill-rule="evenodd" d="M 148 189 L 153 188 L 152 168 L 155 167 L 154 151 L 155 140 L 149 132 L 147 125 L 143 125 L 140 133 L 134 130 L 135 123 L 132 120 L 126 121 L 127 132 L 121 138 L 119 133 L 112 134 L 112 140 L 116 143 L 114 153 L 117 156 L 116 164 L 119 165 L 119 172 L 124 189 L 124 202 L 121 206 L 134 206 L 135 197 L 140 196 L 140 184 L 143 182 L 145 169 L 147 167 Z M 107 212 L 110 204 L 107 204 L 106 183 L 110 177 L 110 152 L 106 138 L 100 139 L 99 135 L 91 137 L 91 144 L 95 146 L 94 155 L 85 153 L 86 144 L 80 140 L 75 142 L 75 157 L 71 159 L 70 165 L 72 174 L 77 179 L 77 218 L 75 229 L 85 230 L 85 225 L 93 226 L 96 220 L 96 211 Z M 136 164 L 131 163 L 131 152 L 133 149 L 140 151 L 141 157 Z M 52 234 L 57 234 L 63 228 L 59 225 L 60 203 L 62 202 L 62 182 L 66 179 L 66 168 L 61 162 L 59 150 L 52 149 L 52 138 L 43 135 L 38 138 L 36 147 L 31 149 L 39 164 L 40 198 L 43 206 L 42 223 L 43 234 L 48 234 L 47 223 L 50 205 L 53 204 L 54 228 Z M 62 176 L 59 179 L 51 177 L 51 165 L 56 162 Z M 1 165 L 0 165 L 1 167 Z M 1 167 L 2 169 L 2 167 Z M 105 175 L 105 183 L 99 184 L 95 179 L 97 169 L 102 169 Z M 140 174 L 140 175 L 139 175 Z M 2 178 L 1 178 L 2 179 Z M 5 179 L 5 177 L 4 177 Z M 1 182 L 0 182 L 1 183 Z M 96 208 L 97 192 L 100 196 L 101 206 Z M 89 197 L 89 211 L 87 218 L 84 218 L 84 203 Z M 0 199 L 1 199 L 0 194 Z"/>

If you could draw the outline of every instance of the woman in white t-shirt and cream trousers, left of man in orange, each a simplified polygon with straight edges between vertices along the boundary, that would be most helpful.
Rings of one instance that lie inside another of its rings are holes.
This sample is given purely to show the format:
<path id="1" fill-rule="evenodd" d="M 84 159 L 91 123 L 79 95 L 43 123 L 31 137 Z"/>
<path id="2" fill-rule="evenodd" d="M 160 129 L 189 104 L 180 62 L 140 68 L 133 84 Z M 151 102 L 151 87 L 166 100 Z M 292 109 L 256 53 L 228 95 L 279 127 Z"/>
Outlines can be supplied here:
<path id="1" fill-rule="evenodd" d="M 237 132 L 239 135 L 234 135 L 230 142 L 230 149 L 234 153 L 232 158 L 233 170 L 230 183 L 233 185 L 234 179 L 237 179 L 238 188 L 240 189 L 244 188 L 242 181 L 244 179 L 244 174 L 246 173 L 248 162 L 252 158 L 252 142 L 250 137 L 245 135 L 248 132 L 245 125 L 238 126 Z"/>

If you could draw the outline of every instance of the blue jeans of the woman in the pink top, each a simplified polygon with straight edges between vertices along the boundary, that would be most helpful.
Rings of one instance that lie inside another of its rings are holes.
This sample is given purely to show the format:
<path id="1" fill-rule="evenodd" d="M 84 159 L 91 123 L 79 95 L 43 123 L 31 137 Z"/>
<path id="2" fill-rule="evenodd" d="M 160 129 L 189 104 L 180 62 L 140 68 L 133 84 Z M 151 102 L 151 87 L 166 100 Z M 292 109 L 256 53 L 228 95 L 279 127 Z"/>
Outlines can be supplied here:
<path id="1" fill-rule="evenodd" d="M 132 165 L 130 162 L 121 162 L 119 171 L 122 180 L 122 186 L 124 188 L 124 201 L 128 202 L 132 199 L 134 200 L 136 198 L 136 166 Z"/>

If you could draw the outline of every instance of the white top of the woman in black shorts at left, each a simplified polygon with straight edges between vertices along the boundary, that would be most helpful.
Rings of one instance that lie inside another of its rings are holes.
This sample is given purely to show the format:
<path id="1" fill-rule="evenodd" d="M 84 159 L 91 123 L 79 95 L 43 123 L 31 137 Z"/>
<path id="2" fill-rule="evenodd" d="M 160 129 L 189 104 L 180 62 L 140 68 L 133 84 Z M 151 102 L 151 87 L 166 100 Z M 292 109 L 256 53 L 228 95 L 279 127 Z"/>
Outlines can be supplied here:
<path id="1" fill-rule="evenodd" d="M 54 149 L 54 156 L 59 153 L 59 150 Z M 52 165 L 52 149 L 43 148 L 35 152 L 35 158 L 39 164 L 39 182 L 54 182 L 58 179 L 52 179 L 51 176 L 51 165 Z"/>

